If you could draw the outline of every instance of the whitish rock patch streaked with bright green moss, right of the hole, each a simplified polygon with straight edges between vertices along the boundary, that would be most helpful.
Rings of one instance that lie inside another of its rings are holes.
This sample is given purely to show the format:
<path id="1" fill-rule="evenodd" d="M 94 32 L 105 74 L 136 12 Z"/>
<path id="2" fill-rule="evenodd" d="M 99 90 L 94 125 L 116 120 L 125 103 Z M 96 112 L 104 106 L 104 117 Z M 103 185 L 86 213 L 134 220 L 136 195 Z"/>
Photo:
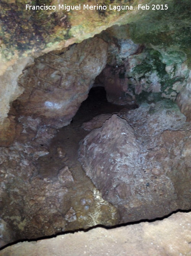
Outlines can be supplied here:
<path id="1" fill-rule="evenodd" d="M 164 57 L 163 48 L 153 46 L 153 49 L 144 48 L 141 53 L 131 55 L 126 60 L 125 77 L 129 78 L 128 88 L 134 92 L 138 102 L 144 98 L 147 101 L 157 101 L 161 97 L 175 101 L 181 89 L 189 84 L 189 68 L 184 62 L 184 53 L 176 53 L 184 56 L 176 63 L 172 62 L 173 56 L 170 53 L 173 55 L 176 52 L 169 50 L 169 54 Z"/>

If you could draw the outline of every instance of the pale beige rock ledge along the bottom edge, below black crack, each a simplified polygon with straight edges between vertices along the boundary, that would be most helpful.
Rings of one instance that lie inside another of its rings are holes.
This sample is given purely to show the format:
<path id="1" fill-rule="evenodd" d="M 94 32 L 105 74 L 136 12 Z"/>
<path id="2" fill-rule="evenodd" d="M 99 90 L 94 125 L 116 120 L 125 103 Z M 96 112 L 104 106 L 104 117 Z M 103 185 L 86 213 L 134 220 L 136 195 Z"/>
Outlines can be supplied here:
<path id="1" fill-rule="evenodd" d="M 18 243 L 3 249 L 1 255 L 189 256 L 190 223 L 191 213 L 179 212 L 152 223 L 142 222 L 110 230 L 94 228 L 88 232 L 80 231 L 37 242 Z"/>

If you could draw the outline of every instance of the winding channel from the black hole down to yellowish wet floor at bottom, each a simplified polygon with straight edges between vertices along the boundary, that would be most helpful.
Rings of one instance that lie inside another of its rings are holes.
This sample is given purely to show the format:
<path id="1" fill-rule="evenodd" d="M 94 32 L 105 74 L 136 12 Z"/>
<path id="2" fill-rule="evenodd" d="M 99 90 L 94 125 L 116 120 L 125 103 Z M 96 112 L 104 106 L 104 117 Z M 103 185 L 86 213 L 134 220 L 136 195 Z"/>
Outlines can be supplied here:
<path id="1" fill-rule="evenodd" d="M 60 129 L 52 139 L 49 146 L 50 153 L 40 157 L 36 162 L 37 175 L 52 182 L 57 182 L 63 168 L 67 167 L 71 172 L 74 182 L 67 185 L 67 195 L 63 202 L 60 202 L 61 205 L 63 204 L 60 208 L 63 208 L 62 215 L 66 214 L 65 209 L 72 208 L 77 218 L 66 224 L 65 231 L 88 228 L 97 224 L 105 226 L 118 224 L 116 208 L 103 200 L 100 192 L 81 167 L 78 161 L 78 148 L 80 140 L 89 133 L 81 127 L 83 122 L 99 114 L 117 113 L 123 107 L 108 103 L 103 87 L 92 88 L 71 124 Z M 88 202 L 86 206 L 84 202 Z"/>

